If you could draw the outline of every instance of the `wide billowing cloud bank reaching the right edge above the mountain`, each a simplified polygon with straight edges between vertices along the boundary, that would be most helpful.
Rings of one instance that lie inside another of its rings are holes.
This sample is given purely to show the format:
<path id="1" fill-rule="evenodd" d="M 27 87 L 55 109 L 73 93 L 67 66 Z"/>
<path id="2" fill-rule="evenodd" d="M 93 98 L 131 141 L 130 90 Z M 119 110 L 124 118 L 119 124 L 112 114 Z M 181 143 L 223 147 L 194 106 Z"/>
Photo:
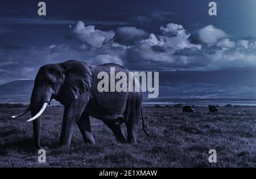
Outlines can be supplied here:
<path id="1" fill-rule="evenodd" d="M 127 49 L 125 66 L 137 70 L 218 70 L 256 66 L 255 40 L 234 41 L 223 38 L 226 33 L 212 25 L 206 29 L 214 38 L 204 39 L 208 43 L 200 45 L 189 41 L 190 34 L 182 25 L 162 26 L 160 31 L 163 35 L 151 33 L 147 39 Z M 200 37 L 205 37 L 207 31 L 203 28 L 197 32 Z"/>

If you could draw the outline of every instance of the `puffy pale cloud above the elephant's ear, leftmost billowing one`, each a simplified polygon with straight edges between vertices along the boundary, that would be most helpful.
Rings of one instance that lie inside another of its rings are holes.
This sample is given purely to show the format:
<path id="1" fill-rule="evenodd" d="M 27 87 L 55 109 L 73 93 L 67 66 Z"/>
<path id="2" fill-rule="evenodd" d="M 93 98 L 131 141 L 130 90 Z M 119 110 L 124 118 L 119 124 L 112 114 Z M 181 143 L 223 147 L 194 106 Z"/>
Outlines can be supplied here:
<path id="1" fill-rule="evenodd" d="M 102 44 L 112 40 L 115 36 L 114 31 L 100 31 L 95 29 L 94 25 L 85 26 L 83 22 L 79 21 L 73 28 L 73 33 L 82 42 L 100 48 Z"/>

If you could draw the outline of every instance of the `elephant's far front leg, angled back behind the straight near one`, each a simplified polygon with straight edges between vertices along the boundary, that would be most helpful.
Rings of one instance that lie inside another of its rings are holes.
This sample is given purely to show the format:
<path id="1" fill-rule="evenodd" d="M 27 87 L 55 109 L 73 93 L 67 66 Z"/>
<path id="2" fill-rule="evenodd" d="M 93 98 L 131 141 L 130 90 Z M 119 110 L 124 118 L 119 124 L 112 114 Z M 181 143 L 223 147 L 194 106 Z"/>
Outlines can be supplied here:
<path id="1" fill-rule="evenodd" d="M 82 113 L 82 116 L 77 122 L 77 126 L 79 126 L 79 130 L 81 131 L 84 142 L 95 144 L 95 140 L 92 134 L 92 129 L 90 127 L 90 118 L 88 114 Z"/>

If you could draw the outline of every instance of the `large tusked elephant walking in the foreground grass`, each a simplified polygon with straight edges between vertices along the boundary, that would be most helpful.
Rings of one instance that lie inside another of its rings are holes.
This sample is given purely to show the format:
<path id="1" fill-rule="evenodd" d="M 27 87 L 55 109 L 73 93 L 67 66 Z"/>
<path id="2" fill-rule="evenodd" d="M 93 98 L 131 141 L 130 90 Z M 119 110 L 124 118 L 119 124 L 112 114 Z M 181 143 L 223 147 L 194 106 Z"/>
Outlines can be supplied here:
<path id="1" fill-rule="evenodd" d="M 142 129 L 146 133 L 142 115 L 142 92 L 99 92 L 97 84 L 101 79 L 97 79 L 97 75 L 102 71 L 110 74 L 110 67 L 115 67 L 116 73 L 129 73 L 127 69 L 114 63 L 92 65 L 76 60 L 40 67 L 35 78 L 30 107 L 12 117 L 22 116 L 31 110 L 32 118 L 28 121 L 33 121 L 35 146 L 44 148 L 40 143 L 39 117 L 47 104 L 55 99 L 65 107 L 61 145 L 70 145 L 76 124 L 84 142 L 95 144 L 89 116 L 102 120 L 119 142 L 136 143 L 135 122 L 138 118 L 142 117 Z M 127 127 L 127 139 L 120 127 L 123 122 Z"/>

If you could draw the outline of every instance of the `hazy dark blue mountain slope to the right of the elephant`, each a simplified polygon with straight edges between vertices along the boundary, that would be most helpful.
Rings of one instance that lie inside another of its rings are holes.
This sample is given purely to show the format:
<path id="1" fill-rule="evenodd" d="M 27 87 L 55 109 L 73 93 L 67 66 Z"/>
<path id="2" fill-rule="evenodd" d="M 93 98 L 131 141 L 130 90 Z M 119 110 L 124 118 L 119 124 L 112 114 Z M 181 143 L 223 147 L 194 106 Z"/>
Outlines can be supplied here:
<path id="1" fill-rule="evenodd" d="M 158 99 L 256 99 L 256 69 L 163 71 Z"/>

